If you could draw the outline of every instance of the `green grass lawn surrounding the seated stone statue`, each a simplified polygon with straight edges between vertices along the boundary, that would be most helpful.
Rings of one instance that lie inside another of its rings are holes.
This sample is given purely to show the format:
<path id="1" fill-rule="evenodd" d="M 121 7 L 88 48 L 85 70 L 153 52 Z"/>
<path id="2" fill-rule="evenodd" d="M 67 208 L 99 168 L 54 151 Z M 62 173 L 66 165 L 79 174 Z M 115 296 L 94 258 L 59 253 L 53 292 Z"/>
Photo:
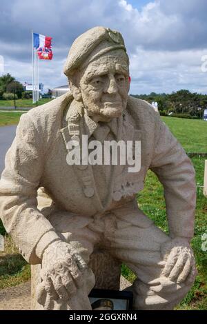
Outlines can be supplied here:
<path id="1" fill-rule="evenodd" d="M 207 122 L 174 117 L 162 117 L 162 119 L 184 146 L 186 152 L 207 152 Z M 193 157 L 192 161 L 196 171 L 196 181 L 198 184 L 203 185 L 204 158 Z M 155 221 L 155 225 L 167 233 L 168 225 L 163 188 L 151 171 L 148 171 L 145 188 L 137 195 L 137 201 L 139 207 Z M 192 241 L 192 247 L 195 252 L 199 274 L 195 285 L 177 307 L 177 310 L 207 310 L 207 252 L 201 251 L 201 235 L 207 232 L 206 212 L 207 199 L 204 198 L 202 192 L 197 192 L 195 237 Z M 1 224 L 0 233 L 5 234 Z M 0 253 L 0 265 L 0 289 L 17 285 L 30 277 L 28 264 L 18 254 L 8 236 L 6 237 L 6 251 L 4 254 Z M 135 279 L 135 275 L 125 265 L 122 267 L 122 274 L 129 281 Z"/>

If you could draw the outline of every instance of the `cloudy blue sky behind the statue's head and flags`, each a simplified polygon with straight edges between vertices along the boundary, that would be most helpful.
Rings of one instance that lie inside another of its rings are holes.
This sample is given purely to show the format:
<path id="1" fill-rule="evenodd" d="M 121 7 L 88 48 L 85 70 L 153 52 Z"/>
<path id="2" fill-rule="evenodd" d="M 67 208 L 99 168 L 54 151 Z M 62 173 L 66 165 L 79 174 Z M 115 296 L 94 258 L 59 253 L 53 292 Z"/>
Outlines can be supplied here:
<path id="1" fill-rule="evenodd" d="M 72 41 L 94 26 L 119 30 L 130 57 L 130 93 L 188 89 L 207 93 L 206 0 L 1 0 L 4 73 L 31 82 L 31 28 L 53 37 L 54 59 L 40 61 L 45 88 L 65 85 Z M 0 72 L 0 74 L 2 74 Z"/>

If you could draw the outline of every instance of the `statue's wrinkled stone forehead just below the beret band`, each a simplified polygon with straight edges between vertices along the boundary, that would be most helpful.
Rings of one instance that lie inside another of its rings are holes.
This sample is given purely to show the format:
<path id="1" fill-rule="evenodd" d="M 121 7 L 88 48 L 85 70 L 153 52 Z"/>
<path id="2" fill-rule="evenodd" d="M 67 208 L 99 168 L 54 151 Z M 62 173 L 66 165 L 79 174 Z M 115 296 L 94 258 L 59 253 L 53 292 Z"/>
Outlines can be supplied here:
<path id="1" fill-rule="evenodd" d="M 128 57 L 124 51 L 120 52 L 110 52 L 92 63 L 89 63 L 85 68 L 82 68 L 82 76 L 86 79 L 90 79 L 95 75 L 107 74 L 108 72 L 128 75 Z"/>

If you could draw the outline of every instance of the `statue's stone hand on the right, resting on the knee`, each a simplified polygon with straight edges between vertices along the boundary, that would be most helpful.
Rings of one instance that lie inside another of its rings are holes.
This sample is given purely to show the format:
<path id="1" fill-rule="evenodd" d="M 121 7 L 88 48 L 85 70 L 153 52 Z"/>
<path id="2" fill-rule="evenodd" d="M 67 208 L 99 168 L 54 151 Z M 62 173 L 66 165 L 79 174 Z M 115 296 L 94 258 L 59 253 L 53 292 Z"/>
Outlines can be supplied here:
<path id="1" fill-rule="evenodd" d="M 177 284 L 194 281 L 196 275 L 195 257 L 187 239 L 177 237 L 164 243 L 161 253 L 166 261 L 162 276 Z"/>

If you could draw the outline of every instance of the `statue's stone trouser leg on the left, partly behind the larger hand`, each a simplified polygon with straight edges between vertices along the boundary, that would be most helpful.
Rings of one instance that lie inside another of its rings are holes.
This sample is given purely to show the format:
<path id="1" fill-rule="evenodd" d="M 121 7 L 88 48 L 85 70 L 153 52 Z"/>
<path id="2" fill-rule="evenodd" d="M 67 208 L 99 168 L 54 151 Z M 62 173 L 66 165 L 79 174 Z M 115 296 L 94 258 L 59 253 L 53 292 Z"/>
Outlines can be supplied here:
<path id="1" fill-rule="evenodd" d="M 57 212 L 49 218 L 50 223 L 55 227 L 57 234 L 74 247 L 77 253 L 88 264 L 90 254 L 97 241 L 99 235 L 88 229 L 87 225 L 91 219 L 83 218 L 79 215 L 71 215 L 70 213 Z M 88 294 L 95 285 L 95 276 L 88 267 L 83 272 L 83 286 L 77 288 L 75 295 L 68 298 L 68 301 L 63 301 L 60 298 L 57 301 L 51 301 L 51 310 L 91 310 Z M 41 309 L 41 307 L 39 307 Z"/>

